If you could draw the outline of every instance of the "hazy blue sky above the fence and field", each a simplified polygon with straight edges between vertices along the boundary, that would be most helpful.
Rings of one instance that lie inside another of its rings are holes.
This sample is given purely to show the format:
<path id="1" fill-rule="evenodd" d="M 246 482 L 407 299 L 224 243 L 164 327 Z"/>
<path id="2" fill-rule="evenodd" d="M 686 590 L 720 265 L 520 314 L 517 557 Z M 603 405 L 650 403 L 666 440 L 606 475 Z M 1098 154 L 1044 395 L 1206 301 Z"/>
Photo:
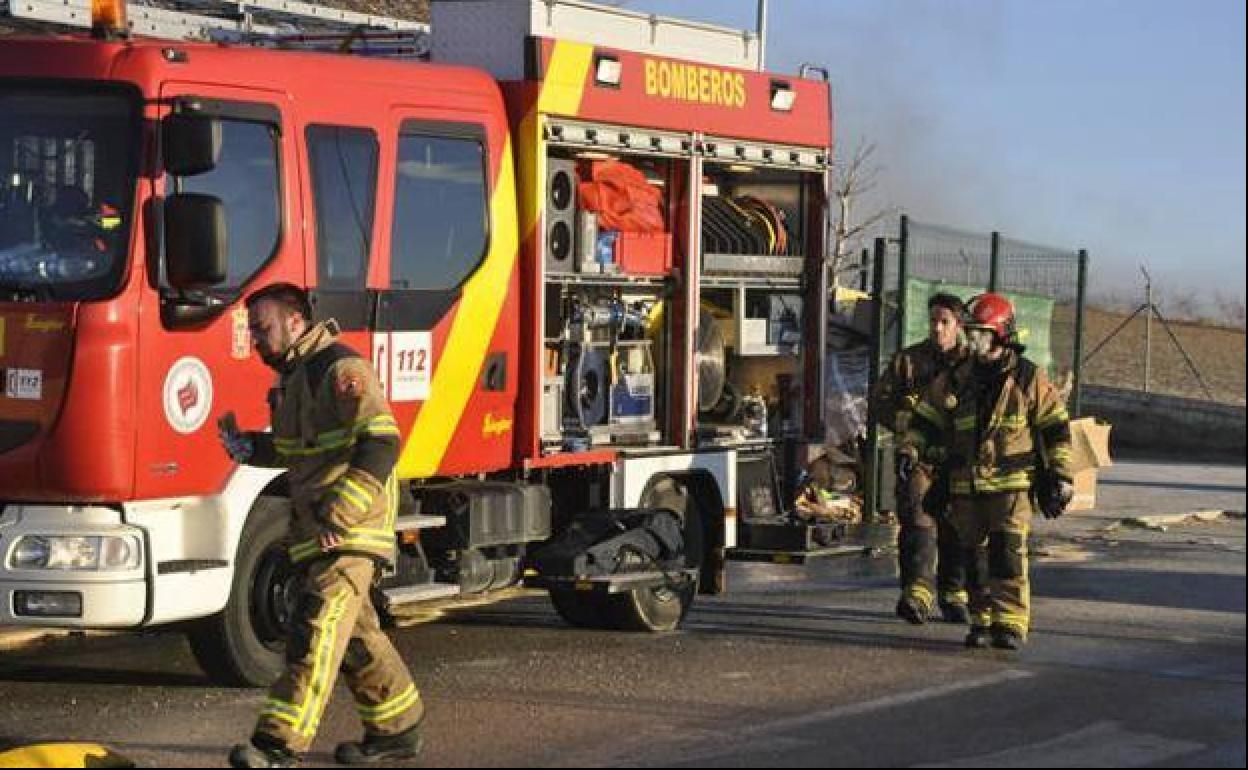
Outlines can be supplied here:
<path id="1" fill-rule="evenodd" d="M 754 27 L 755 0 L 628 0 Z M 832 72 L 917 220 L 1086 247 L 1093 288 L 1244 296 L 1242 0 L 771 0 L 769 69 Z"/>

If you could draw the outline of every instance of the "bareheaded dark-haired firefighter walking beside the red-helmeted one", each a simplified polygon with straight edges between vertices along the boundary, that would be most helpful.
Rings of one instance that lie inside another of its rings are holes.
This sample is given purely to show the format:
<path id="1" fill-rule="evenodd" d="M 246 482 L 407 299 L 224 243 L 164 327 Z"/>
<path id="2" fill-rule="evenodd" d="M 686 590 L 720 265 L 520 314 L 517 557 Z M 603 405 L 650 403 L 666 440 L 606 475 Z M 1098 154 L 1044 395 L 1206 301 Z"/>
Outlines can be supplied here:
<path id="1" fill-rule="evenodd" d="M 961 339 L 962 301 L 953 295 L 934 295 L 927 302 L 927 339 L 901 351 L 884 372 L 874 394 L 880 422 L 900 441 L 910 429 L 915 406 L 929 386 L 943 372 L 963 362 L 967 349 Z M 926 623 L 936 605 L 950 623 L 970 620 L 966 570 L 957 535 L 946 515 L 948 495 L 945 479 L 930 462 L 907 464 L 899 454 L 897 560 L 901 598 L 897 615 L 910 623 Z"/>

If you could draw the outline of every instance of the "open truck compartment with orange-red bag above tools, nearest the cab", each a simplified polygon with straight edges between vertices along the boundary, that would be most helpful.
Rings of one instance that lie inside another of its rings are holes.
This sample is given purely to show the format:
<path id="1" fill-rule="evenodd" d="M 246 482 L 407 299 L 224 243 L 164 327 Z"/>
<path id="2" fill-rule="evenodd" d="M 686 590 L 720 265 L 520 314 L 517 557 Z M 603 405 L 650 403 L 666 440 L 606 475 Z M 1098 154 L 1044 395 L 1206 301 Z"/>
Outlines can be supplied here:
<path id="1" fill-rule="evenodd" d="M 573 121 L 545 134 L 543 449 L 669 443 L 690 142 Z"/>

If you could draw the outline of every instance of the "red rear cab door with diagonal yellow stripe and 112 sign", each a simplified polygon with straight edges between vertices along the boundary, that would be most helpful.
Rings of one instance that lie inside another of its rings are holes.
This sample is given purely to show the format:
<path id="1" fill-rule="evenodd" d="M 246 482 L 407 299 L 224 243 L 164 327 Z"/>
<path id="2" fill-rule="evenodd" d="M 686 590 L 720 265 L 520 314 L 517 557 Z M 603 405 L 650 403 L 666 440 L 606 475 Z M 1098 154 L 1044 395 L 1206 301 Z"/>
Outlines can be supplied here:
<path id="1" fill-rule="evenodd" d="M 519 372 L 517 221 L 505 121 L 398 110 L 388 288 L 374 361 L 407 431 L 399 474 L 510 465 Z"/>

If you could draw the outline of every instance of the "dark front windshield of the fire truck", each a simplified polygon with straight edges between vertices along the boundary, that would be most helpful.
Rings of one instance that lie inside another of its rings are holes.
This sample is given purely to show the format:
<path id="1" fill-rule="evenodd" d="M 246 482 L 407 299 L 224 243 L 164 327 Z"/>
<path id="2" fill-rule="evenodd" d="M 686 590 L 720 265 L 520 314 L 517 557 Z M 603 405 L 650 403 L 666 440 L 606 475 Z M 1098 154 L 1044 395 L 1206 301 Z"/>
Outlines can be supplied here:
<path id="1" fill-rule="evenodd" d="M 0 300 L 111 296 L 131 230 L 137 97 L 0 81 Z"/>

